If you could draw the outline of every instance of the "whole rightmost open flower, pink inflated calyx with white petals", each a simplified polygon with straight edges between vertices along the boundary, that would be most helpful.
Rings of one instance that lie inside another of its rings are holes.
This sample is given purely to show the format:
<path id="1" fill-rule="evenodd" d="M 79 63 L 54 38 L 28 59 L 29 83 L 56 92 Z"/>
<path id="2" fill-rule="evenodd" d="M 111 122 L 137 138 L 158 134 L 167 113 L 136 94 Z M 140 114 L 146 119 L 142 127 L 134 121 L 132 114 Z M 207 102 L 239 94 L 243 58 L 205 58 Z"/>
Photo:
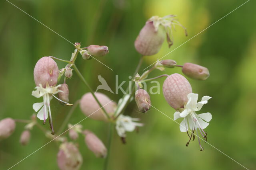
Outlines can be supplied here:
<path id="1" fill-rule="evenodd" d="M 196 114 L 196 111 L 200 111 L 211 97 L 204 96 L 200 102 L 197 102 L 198 94 L 192 93 L 190 83 L 180 74 L 172 74 L 166 78 L 163 93 L 168 104 L 176 109 L 174 120 L 184 118 L 180 123 L 180 131 L 188 133 L 188 128 L 192 131 L 191 135 L 188 134 L 190 139 L 186 146 L 188 146 L 192 136 L 194 140 L 195 131 L 197 133 L 199 131 L 206 142 L 207 132 L 203 129 L 209 125 L 208 122 L 212 119 L 212 115 L 210 113 Z M 201 146 L 199 137 L 198 142 L 202 151 L 204 148 Z"/>

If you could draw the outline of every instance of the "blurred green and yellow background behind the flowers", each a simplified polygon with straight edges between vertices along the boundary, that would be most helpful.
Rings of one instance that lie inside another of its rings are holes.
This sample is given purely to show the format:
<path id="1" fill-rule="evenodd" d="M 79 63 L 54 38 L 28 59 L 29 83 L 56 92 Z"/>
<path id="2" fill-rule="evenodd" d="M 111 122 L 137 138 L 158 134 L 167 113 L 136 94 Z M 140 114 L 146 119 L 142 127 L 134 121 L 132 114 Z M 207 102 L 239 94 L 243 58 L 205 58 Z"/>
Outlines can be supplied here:
<path id="1" fill-rule="evenodd" d="M 134 40 L 148 18 L 154 15 L 176 14 L 180 23 L 188 30 L 184 36 L 182 28 L 174 31 L 174 45 L 169 49 L 165 42 L 157 55 L 145 57 L 142 69 L 156 59 L 175 49 L 215 21 L 219 20 L 241 4 L 244 0 L 11 0 L 16 6 L 38 19 L 72 43 L 81 42 L 107 45 L 110 53 L 99 60 L 112 68 L 106 68 L 95 60 L 77 59 L 77 66 L 91 84 L 100 84 L 101 74 L 109 86 L 115 88 L 115 75 L 119 82 L 129 80 L 139 60 L 134 49 Z M 205 81 L 188 78 L 194 93 L 199 97 L 211 96 L 201 113 L 212 113 L 212 121 L 207 127 L 208 142 L 249 169 L 256 169 L 256 17 L 254 1 L 249 1 L 194 37 L 164 59 L 174 59 L 178 64 L 186 62 L 206 66 L 210 77 Z M 5 0 L 0 2 L 0 119 L 12 117 L 28 119 L 32 115 L 32 104 L 40 102 L 31 96 L 35 84 L 34 65 L 43 56 L 52 55 L 70 59 L 74 47 L 62 37 L 24 14 Z M 65 63 L 57 62 L 59 68 Z M 142 70 L 141 69 L 141 70 Z M 140 70 L 140 73 L 142 73 Z M 180 68 L 155 71 L 160 74 L 181 73 Z M 160 84 L 164 78 L 159 79 Z M 78 76 L 67 81 L 70 86 L 70 102 L 88 92 Z M 128 83 L 126 83 L 127 86 Z M 148 84 L 150 86 L 150 84 Z M 122 94 L 110 94 L 116 102 Z M 172 109 L 161 94 L 151 95 L 152 105 L 173 117 Z M 156 109 L 147 114 L 136 110 L 135 102 L 129 104 L 125 114 L 140 117 L 145 124 L 139 133 L 127 134 L 127 144 L 123 145 L 114 133 L 110 150 L 109 170 L 238 170 L 242 166 L 203 143 L 200 152 L 198 142 L 190 142 L 186 133 L 181 133 L 179 125 Z M 52 100 L 53 121 L 60 127 L 70 107 L 64 107 Z M 70 119 L 75 124 L 85 116 L 79 107 Z M 178 120 L 180 122 L 180 120 Z M 107 124 L 86 119 L 81 123 L 107 143 Z M 49 128 L 49 125 L 45 125 Z M 22 147 L 19 143 L 24 124 L 17 123 L 14 134 L 0 142 L 0 169 L 14 165 L 36 149 L 46 144 L 42 131 L 34 127 L 30 144 Z M 67 127 L 66 127 L 67 128 Z M 67 134 L 65 134 L 67 136 Z M 96 158 L 78 140 L 84 158 L 81 169 L 98 170 L 104 160 Z M 58 146 L 52 142 L 38 150 L 13 169 L 57 169 Z"/>

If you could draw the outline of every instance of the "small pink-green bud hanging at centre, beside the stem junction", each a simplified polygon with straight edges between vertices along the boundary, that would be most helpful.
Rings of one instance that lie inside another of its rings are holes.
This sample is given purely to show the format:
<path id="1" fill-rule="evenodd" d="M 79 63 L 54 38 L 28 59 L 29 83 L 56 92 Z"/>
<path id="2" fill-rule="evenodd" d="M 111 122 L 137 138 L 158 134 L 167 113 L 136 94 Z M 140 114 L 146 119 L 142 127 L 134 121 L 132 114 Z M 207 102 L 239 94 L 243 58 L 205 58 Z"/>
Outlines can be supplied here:
<path id="1" fill-rule="evenodd" d="M 146 113 L 150 109 L 151 107 L 150 96 L 146 90 L 138 89 L 135 92 L 134 99 L 140 112 Z"/>

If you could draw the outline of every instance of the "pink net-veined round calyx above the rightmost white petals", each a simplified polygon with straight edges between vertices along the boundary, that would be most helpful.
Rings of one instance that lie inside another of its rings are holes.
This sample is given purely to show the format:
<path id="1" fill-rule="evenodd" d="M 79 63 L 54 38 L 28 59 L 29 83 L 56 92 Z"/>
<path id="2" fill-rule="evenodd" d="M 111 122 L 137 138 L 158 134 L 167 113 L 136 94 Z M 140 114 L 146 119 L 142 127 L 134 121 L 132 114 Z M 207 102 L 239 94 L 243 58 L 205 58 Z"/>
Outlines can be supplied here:
<path id="1" fill-rule="evenodd" d="M 164 98 L 172 108 L 178 110 L 184 108 L 188 102 L 188 94 L 192 93 L 192 88 L 188 80 L 178 74 L 171 74 L 164 80 Z"/>

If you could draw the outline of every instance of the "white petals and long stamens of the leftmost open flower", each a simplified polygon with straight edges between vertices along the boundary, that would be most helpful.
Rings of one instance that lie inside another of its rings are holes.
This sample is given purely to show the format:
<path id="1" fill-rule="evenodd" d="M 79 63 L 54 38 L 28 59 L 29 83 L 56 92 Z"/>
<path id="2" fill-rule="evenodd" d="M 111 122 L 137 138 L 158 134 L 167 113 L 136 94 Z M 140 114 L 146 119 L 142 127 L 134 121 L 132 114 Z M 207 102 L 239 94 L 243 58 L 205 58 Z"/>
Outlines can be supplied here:
<path id="1" fill-rule="evenodd" d="M 32 96 L 35 96 L 36 98 L 40 98 L 43 97 L 43 102 L 40 103 L 34 103 L 33 104 L 33 109 L 34 111 L 38 112 L 37 113 L 37 117 L 40 120 L 44 120 L 44 124 L 46 119 L 48 118 L 48 113 L 50 116 L 50 126 L 52 129 L 52 133 L 54 133 L 53 131 L 53 126 L 52 126 L 52 115 L 51 115 L 51 109 L 50 109 L 50 100 L 52 100 L 52 96 L 56 99 L 58 99 L 56 96 L 54 96 L 54 94 L 57 94 L 58 92 L 62 92 L 61 90 L 58 90 L 58 87 L 60 87 L 60 85 L 58 86 L 49 86 L 49 84 L 46 84 L 46 87 L 43 88 L 41 84 L 39 84 L 39 86 L 36 86 L 36 90 L 32 91 Z M 60 99 L 58 99 L 60 100 Z M 64 102 L 62 100 L 60 100 L 61 102 Z M 64 102 L 66 105 L 72 106 L 66 102 Z"/>

